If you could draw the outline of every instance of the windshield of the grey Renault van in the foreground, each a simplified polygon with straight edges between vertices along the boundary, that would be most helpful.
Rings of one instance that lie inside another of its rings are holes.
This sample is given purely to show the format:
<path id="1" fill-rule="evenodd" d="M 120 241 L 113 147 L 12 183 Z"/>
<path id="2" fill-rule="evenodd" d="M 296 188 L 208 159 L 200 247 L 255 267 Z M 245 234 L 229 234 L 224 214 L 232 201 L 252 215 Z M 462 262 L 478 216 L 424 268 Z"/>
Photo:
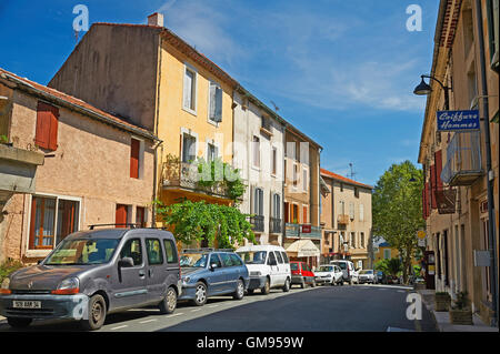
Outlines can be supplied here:
<path id="1" fill-rule="evenodd" d="M 86 265 L 109 262 L 120 240 L 63 240 L 44 262 L 46 265 Z"/>

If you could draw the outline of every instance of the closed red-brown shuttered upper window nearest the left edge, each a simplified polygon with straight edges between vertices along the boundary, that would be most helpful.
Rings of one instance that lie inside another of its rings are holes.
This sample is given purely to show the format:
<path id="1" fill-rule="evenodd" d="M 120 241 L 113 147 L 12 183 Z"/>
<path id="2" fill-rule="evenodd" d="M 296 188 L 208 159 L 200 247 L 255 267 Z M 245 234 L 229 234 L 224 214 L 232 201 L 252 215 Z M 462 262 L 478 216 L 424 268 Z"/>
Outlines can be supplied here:
<path id="1" fill-rule="evenodd" d="M 37 130 L 34 143 L 47 150 L 58 149 L 59 109 L 39 101 L 37 107 Z"/>

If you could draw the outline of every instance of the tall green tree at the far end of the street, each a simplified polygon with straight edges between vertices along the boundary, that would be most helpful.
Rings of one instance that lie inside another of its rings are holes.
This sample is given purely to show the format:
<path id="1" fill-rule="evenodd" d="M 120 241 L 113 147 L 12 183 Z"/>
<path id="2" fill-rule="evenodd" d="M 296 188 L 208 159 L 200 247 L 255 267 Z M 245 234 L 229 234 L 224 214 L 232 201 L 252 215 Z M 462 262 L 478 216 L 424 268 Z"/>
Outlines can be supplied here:
<path id="1" fill-rule="evenodd" d="M 418 252 L 417 231 L 422 218 L 422 170 L 410 161 L 392 164 L 377 182 L 372 195 L 373 234 L 399 251 L 403 282 L 408 282 L 411 260 Z"/>

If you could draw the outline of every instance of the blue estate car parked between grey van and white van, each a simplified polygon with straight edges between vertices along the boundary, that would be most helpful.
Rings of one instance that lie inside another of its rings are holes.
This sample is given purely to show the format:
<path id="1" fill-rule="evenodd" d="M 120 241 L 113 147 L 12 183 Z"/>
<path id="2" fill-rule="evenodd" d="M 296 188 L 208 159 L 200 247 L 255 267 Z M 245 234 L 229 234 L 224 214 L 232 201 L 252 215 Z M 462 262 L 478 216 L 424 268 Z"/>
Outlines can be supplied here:
<path id="1" fill-rule="evenodd" d="M 214 295 L 232 295 L 243 299 L 250 277 L 238 254 L 227 250 L 184 250 L 180 256 L 182 295 L 197 306 L 206 304 Z"/>

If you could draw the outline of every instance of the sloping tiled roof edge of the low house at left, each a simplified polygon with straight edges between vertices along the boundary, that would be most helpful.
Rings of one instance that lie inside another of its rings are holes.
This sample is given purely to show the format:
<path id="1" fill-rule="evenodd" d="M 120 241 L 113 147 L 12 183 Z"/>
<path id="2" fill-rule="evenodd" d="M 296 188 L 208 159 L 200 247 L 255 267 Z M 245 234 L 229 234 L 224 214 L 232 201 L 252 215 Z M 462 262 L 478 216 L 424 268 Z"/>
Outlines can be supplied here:
<path id="1" fill-rule="evenodd" d="M 136 134 L 139 134 L 141 136 L 144 136 L 144 138 L 148 138 L 151 140 L 159 140 L 147 129 L 143 129 L 141 127 L 138 127 L 136 124 L 132 124 L 132 123 L 126 121 L 124 119 L 121 119 L 121 118 L 112 115 L 108 112 L 104 112 L 104 111 L 91 105 L 90 103 L 87 103 L 80 99 L 72 97 L 72 95 L 69 95 L 69 94 L 58 91 L 56 89 L 42 85 L 42 84 L 31 81 L 27 78 L 21 78 L 21 77 L 17 75 L 10 71 L 7 71 L 2 68 L 0 68 L 0 80 L 7 80 L 10 82 L 13 82 L 19 85 L 18 89 L 21 89 L 21 90 L 27 91 L 34 95 L 39 95 L 39 97 L 43 98 L 44 100 L 50 101 L 57 105 L 63 105 L 70 110 L 78 110 L 82 114 L 86 114 L 90 118 L 112 124 L 122 130 L 133 132 Z"/>

